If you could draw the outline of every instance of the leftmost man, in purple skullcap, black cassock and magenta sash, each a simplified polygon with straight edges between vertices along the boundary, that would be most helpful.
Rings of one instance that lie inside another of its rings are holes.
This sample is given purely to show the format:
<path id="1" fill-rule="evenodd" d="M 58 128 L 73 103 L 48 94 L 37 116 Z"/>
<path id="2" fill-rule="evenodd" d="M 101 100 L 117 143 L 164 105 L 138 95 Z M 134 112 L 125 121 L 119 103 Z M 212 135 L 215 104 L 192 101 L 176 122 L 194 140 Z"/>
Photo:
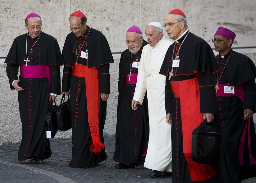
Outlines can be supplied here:
<path id="1" fill-rule="evenodd" d="M 46 114 L 50 99 L 60 94 L 60 65 L 63 64 L 57 40 L 41 31 L 38 14 L 25 19 L 28 33 L 14 39 L 6 57 L 6 72 L 12 90 L 18 91 L 22 139 L 18 160 L 31 159 L 31 164 L 42 164 L 51 157 L 46 139 Z M 20 77 L 18 71 L 20 67 Z"/>

